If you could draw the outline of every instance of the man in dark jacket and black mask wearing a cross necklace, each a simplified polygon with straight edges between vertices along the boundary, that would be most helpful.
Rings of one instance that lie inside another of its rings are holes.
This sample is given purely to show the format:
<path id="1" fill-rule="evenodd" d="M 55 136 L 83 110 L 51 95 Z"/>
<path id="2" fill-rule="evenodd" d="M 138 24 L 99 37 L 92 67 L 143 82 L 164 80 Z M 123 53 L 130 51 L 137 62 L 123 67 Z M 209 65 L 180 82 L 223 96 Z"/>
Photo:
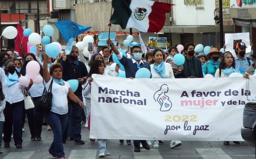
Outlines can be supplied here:
<path id="1" fill-rule="evenodd" d="M 86 81 L 83 77 L 88 75 L 86 66 L 83 62 L 78 60 L 79 52 L 76 46 L 72 47 L 69 58 L 65 55 L 65 51 L 61 54 L 62 60 L 60 64 L 63 67 L 63 80 L 68 81 L 76 79 L 79 82 L 77 90 L 74 94 L 83 101 L 82 96 L 82 83 Z M 67 132 L 63 134 L 62 142 L 66 143 L 66 137 L 70 137 L 70 140 L 75 140 L 74 144 L 84 144 L 81 140 L 81 121 L 84 110 L 77 104 L 69 100 L 68 102 L 68 125 Z"/>

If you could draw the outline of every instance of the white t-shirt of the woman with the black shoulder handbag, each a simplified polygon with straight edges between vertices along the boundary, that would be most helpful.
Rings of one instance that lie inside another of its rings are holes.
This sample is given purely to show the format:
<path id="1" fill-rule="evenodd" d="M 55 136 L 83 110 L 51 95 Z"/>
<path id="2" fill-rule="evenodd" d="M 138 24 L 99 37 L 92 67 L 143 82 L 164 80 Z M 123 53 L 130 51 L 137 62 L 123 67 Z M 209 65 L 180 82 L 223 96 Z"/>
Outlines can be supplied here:
<path id="1" fill-rule="evenodd" d="M 48 91 L 49 86 L 51 84 L 52 77 L 45 83 L 45 87 Z M 70 88 L 69 83 L 63 81 L 65 83 L 64 86 L 59 85 L 55 81 L 52 83 L 52 110 L 51 112 L 63 115 L 68 113 L 68 89 Z"/>

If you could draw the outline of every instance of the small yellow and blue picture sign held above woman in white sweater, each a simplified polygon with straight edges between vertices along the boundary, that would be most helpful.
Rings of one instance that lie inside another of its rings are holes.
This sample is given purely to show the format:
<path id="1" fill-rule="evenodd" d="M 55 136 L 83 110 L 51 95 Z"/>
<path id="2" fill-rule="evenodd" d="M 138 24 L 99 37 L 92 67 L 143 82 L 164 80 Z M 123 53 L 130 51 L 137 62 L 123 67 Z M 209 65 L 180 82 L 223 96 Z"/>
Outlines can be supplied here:
<path id="1" fill-rule="evenodd" d="M 154 50 L 154 49 L 167 50 L 166 38 L 149 37 L 148 49 L 150 49 L 150 50 Z"/>

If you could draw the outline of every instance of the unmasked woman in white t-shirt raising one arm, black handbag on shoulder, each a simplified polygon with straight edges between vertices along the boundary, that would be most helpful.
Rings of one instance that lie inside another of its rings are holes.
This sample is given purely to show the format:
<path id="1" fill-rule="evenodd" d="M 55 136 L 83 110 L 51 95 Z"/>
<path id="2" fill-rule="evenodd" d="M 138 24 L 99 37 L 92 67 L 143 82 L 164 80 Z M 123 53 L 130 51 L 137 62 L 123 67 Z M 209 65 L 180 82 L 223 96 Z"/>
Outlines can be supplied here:
<path id="1" fill-rule="evenodd" d="M 48 90 L 52 83 L 52 108 L 45 112 L 45 119 L 53 131 L 53 142 L 49 147 L 49 153 L 53 158 L 65 159 L 64 148 L 62 144 L 62 134 L 68 123 L 68 98 L 78 103 L 82 108 L 84 103 L 73 93 L 70 85 L 63 81 L 61 64 L 53 64 L 50 72 L 47 68 L 48 56 L 44 55 L 44 82 Z"/>

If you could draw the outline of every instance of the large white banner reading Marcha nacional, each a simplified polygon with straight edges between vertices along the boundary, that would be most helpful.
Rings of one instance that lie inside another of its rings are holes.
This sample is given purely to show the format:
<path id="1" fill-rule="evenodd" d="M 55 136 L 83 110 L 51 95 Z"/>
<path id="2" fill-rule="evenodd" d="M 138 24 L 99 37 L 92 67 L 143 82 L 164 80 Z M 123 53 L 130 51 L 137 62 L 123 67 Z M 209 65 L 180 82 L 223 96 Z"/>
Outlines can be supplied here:
<path id="1" fill-rule="evenodd" d="M 93 75 L 90 138 L 242 141 L 256 78 L 126 79 Z M 108 81 L 108 82 L 106 82 Z"/>

